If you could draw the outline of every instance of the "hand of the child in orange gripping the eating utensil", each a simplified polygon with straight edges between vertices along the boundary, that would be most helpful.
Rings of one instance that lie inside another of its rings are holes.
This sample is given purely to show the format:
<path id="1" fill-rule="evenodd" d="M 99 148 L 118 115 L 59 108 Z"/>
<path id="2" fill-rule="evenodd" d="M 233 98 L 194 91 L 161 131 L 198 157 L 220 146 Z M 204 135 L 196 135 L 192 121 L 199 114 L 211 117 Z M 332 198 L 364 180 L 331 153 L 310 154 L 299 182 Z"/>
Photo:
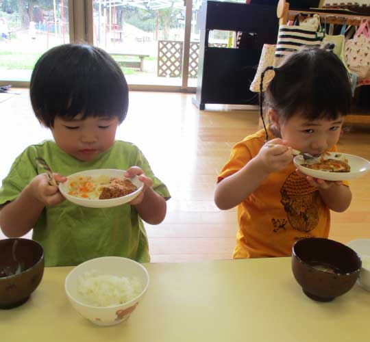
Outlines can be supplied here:
<path id="1" fill-rule="evenodd" d="M 264 144 L 256 155 L 256 161 L 260 163 L 263 170 L 267 173 L 283 170 L 293 160 L 292 148 L 284 144 L 280 138 L 269 141 L 269 144 L 274 144 L 269 147 Z"/>

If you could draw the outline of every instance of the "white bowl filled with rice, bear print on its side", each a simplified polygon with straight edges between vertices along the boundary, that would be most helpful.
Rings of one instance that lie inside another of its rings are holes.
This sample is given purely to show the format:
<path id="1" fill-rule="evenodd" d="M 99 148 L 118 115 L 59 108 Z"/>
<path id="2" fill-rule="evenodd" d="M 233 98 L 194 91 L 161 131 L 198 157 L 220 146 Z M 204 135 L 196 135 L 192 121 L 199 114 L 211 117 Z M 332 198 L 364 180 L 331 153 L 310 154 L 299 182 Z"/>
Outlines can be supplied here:
<path id="1" fill-rule="evenodd" d="M 72 269 L 64 282 L 75 310 L 98 326 L 113 326 L 128 319 L 148 285 L 147 269 L 121 257 L 86 261 Z"/>

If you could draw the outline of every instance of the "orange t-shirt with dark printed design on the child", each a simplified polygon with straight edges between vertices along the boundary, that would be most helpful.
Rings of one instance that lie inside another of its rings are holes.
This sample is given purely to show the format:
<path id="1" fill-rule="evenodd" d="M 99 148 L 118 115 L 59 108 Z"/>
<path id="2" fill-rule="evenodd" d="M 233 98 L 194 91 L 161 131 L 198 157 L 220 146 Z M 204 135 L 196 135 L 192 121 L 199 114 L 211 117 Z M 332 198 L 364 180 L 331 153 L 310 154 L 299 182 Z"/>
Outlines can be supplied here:
<path id="1" fill-rule="evenodd" d="M 269 136 L 273 137 L 271 131 Z M 256 157 L 264 139 L 261 130 L 236 144 L 218 182 Z M 330 151 L 336 151 L 336 146 Z M 284 170 L 271 173 L 238 205 L 234 259 L 286 257 L 299 239 L 328 237 L 330 209 L 321 200 L 318 189 L 295 170 L 292 161 Z"/>

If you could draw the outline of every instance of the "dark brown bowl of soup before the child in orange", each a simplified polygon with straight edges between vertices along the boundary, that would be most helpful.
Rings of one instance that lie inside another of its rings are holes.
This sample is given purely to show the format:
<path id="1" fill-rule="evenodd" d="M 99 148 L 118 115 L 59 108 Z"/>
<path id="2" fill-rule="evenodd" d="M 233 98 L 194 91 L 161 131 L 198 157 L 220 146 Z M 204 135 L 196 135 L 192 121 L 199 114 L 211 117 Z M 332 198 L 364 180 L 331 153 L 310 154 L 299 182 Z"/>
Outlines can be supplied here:
<path id="1" fill-rule="evenodd" d="M 361 260 L 354 250 L 337 241 L 310 237 L 293 246 L 292 269 L 309 298 L 330 302 L 354 286 Z"/>

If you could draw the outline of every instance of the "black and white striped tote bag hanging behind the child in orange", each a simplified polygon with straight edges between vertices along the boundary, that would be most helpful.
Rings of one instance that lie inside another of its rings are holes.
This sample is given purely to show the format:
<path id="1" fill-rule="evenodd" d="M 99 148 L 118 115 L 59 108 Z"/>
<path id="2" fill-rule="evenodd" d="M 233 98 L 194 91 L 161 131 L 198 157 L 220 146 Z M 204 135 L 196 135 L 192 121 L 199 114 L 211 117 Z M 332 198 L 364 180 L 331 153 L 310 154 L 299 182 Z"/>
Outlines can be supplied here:
<path id="1" fill-rule="evenodd" d="M 307 18 L 301 24 L 299 24 L 298 16 L 296 16 L 293 25 L 280 25 L 273 66 L 279 66 L 286 55 L 290 55 L 303 47 L 320 47 L 324 36 L 325 33 L 320 25 L 320 17 L 317 14 Z"/>

